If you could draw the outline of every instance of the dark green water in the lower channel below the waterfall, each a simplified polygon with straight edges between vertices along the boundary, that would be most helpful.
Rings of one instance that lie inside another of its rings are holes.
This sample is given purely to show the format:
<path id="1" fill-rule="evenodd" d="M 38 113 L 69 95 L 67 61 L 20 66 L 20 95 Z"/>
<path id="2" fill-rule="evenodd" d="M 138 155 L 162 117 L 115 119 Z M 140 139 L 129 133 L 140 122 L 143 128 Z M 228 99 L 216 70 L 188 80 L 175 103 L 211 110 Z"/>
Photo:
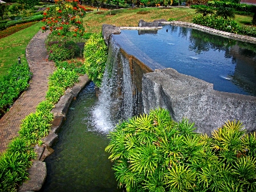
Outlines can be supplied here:
<path id="1" fill-rule="evenodd" d="M 91 83 L 72 102 L 67 121 L 58 132 L 54 153 L 45 160 L 47 179 L 42 191 L 115 192 L 117 182 L 109 154 L 104 152 L 109 140 L 92 123 L 97 102 Z"/>

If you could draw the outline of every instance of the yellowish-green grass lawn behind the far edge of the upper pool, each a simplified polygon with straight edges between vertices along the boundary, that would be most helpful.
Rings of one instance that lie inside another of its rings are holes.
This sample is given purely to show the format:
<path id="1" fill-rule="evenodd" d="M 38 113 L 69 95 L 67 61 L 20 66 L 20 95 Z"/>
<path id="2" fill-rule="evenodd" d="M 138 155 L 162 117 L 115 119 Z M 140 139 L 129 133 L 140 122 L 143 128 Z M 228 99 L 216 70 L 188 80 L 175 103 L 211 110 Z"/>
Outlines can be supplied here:
<path id="1" fill-rule="evenodd" d="M 152 22 L 156 19 L 170 19 L 192 22 L 195 14 L 195 9 L 191 8 L 128 8 L 120 10 L 94 12 L 86 14 L 84 23 L 90 24 L 87 28 L 88 33 L 100 33 L 102 24 L 113 24 L 115 26 L 138 26 L 140 19 L 147 22 Z M 146 14 L 138 14 L 138 12 Z M 244 15 L 236 15 L 236 22 L 239 26 L 244 26 L 252 23 L 252 17 Z"/>

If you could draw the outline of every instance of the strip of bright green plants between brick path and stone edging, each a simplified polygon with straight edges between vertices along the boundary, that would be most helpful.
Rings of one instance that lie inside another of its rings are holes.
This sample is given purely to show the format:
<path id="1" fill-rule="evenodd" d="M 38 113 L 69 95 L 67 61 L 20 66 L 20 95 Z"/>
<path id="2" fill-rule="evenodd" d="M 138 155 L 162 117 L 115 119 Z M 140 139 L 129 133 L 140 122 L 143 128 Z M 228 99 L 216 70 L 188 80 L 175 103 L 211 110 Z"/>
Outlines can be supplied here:
<path id="1" fill-rule="evenodd" d="M 17 191 L 24 179 L 28 179 L 28 168 L 36 154 L 33 146 L 42 144 L 42 138 L 49 134 L 53 114 L 51 109 L 58 102 L 68 86 L 77 82 L 75 69 L 63 68 L 58 63 L 57 70 L 49 77 L 49 88 L 45 100 L 40 102 L 35 113 L 31 113 L 20 125 L 19 136 L 14 138 L 4 154 L 0 156 L 0 191 Z M 76 70 L 79 70 L 77 63 Z M 60 66 L 60 67 L 58 67 Z"/>

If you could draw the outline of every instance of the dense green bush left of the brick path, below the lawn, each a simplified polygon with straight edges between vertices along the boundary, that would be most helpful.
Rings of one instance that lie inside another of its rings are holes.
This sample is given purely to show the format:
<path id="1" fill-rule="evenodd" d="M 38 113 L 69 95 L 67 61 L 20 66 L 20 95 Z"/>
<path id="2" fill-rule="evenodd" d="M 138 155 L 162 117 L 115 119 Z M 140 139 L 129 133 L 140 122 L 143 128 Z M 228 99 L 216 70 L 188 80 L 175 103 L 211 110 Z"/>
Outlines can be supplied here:
<path id="1" fill-rule="evenodd" d="M 31 76 L 28 63 L 12 65 L 8 74 L 0 82 L 0 116 L 4 115 L 6 109 L 19 97 L 20 92 L 28 88 Z"/>

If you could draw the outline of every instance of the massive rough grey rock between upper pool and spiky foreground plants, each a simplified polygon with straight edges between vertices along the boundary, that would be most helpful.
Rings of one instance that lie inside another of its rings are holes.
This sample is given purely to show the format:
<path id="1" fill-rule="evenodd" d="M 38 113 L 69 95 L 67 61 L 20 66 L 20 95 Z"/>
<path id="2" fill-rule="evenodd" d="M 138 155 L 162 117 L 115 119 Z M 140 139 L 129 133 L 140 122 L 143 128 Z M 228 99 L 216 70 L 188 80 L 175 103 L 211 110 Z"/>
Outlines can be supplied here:
<path id="1" fill-rule="evenodd" d="M 175 121 L 195 122 L 197 132 L 211 134 L 227 120 L 240 120 L 246 130 L 256 131 L 256 97 L 218 92 L 211 83 L 172 68 L 144 74 L 142 95 L 145 113 L 166 108 Z"/>

